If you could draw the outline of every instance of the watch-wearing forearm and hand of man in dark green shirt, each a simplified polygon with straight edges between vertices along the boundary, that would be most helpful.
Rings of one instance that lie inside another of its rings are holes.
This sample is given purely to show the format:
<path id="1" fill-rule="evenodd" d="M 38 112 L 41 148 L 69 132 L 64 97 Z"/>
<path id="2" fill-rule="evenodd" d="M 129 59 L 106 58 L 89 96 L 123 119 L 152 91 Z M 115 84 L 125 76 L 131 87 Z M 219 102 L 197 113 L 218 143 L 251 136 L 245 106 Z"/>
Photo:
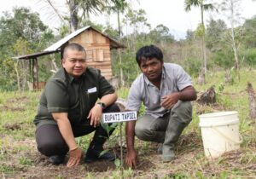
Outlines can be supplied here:
<path id="1" fill-rule="evenodd" d="M 106 107 L 113 104 L 116 100 L 116 93 L 103 95 L 101 98 L 101 102 L 103 102 Z M 102 118 L 102 107 L 98 104 L 95 104 L 95 106 L 90 109 L 90 113 L 87 118 L 90 118 L 90 125 L 96 127 L 98 124 L 100 124 L 100 120 Z"/>

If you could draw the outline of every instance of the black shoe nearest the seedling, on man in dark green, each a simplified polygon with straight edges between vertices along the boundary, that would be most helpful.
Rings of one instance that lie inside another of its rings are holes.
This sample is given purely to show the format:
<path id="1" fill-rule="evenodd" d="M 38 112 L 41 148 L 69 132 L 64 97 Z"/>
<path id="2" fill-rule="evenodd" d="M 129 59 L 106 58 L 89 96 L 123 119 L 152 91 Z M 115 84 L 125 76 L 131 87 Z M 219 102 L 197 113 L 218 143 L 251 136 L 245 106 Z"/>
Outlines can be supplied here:
<path id="1" fill-rule="evenodd" d="M 105 152 L 103 148 L 96 149 L 96 148 L 89 147 L 86 152 L 84 162 L 89 163 L 89 162 L 101 160 L 101 159 L 113 161 L 114 159 L 116 159 L 116 157 L 113 153 Z"/>

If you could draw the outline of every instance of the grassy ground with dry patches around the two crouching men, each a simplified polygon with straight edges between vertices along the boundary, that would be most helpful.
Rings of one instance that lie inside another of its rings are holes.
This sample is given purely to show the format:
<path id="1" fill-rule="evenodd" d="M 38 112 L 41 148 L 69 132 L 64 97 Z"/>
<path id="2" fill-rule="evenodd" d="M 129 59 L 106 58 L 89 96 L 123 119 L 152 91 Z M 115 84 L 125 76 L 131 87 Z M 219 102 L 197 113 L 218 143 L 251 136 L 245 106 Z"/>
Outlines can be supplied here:
<path id="1" fill-rule="evenodd" d="M 256 124 L 249 118 L 247 82 L 256 89 L 256 71 L 243 69 L 240 80 L 234 78 L 232 84 L 224 84 L 224 72 L 207 74 L 207 84 L 195 89 L 200 95 L 215 85 L 217 103 L 201 106 L 193 102 L 193 120 L 177 142 L 177 159 L 162 163 L 157 155 L 157 144 L 140 141 L 136 138 L 139 165 L 136 170 L 125 168 L 125 178 L 254 178 L 256 176 Z M 126 99 L 129 89 L 119 89 L 119 98 Z M 0 173 L 5 177 L 33 177 L 36 172 L 44 178 L 120 178 L 119 169 L 100 163 L 99 165 L 79 165 L 67 169 L 65 165 L 53 167 L 40 156 L 34 139 L 35 126 L 32 123 L 36 114 L 41 92 L 2 92 L 0 94 Z M 237 111 L 240 119 L 240 133 L 243 139 L 241 149 L 225 153 L 215 160 L 204 156 L 199 127 L 199 115 L 218 111 Z M 142 107 L 141 113 L 144 113 Z M 125 125 L 123 125 L 125 136 Z M 84 151 L 89 146 L 93 133 L 76 139 Z M 125 137 L 124 137 L 125 139 Z M 107 146 L 119 153 L 119 126 L 113 132 Z M 124 152 L 125 149 L 124 149 Z M 99 170 L 102 165 L 106 169 Z M 94 168 L 93 168 L 94 167 Z M 90 168 L 93 168 L 90 169 Z M 30 170 L 31 169 L 31 170 Z M 36 174 L 35 174 L 36 175 Z"/>

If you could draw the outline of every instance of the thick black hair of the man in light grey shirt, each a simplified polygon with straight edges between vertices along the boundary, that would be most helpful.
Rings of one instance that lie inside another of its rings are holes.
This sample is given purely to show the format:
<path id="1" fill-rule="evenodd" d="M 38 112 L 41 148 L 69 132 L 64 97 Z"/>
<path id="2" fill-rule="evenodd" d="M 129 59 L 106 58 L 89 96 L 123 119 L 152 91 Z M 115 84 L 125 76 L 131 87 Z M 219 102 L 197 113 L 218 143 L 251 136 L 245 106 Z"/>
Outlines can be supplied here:
<path id="1" fill-rule="evenodd" d="M 151 60 L 153 58 L 163 62 L 163 52 L 158 47 L 151 44 L 137 50 L 136 61 L 139 66 L 142 61 Z"/>

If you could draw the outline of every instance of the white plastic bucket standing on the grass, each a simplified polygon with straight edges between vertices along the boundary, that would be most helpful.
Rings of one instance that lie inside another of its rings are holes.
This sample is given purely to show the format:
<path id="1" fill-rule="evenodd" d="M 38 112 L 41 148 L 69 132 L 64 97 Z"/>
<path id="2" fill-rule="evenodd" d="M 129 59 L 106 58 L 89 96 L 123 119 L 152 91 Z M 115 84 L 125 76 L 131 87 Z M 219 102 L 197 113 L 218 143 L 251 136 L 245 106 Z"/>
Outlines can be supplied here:
<path id="1" fill-rule="evenodd" d="M 240 148 L 239 119 L 236 111 L 199 116 L 204 152 L 208 159 Z"/>

